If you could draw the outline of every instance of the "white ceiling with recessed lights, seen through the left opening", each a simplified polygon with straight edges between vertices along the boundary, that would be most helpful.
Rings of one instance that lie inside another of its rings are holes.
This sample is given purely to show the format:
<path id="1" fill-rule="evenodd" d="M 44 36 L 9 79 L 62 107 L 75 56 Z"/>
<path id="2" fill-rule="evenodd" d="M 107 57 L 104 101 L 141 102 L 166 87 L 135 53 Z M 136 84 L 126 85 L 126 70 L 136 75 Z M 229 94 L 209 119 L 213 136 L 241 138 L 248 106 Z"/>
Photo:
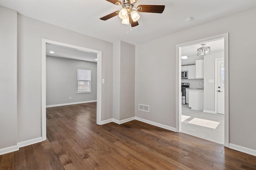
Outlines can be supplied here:
<path id="1" fill-rule="evenodd" d="M 50 51 L 53 51 L 54 53 L 50 53 Z M 46 44 L 46 55 L 67 59 L 97 62 L 95 60 L 97 59 L 96 54 L 80 51 L 78 49 L 72 49 L 69 47 L 63 47 L 60 45 Z"/>

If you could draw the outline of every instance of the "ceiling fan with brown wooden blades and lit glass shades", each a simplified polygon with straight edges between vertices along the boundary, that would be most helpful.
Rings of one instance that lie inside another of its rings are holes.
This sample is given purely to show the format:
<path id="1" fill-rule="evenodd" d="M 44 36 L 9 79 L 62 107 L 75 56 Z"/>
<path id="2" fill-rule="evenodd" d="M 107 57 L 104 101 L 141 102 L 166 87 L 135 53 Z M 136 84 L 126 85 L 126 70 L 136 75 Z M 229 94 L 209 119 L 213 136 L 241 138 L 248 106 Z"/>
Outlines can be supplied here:
<path id="1" fill-rule="evenodd" d="M 122 6 L 122 10 L 115 11 L 111 14 L 108 14 L 100 20 L 108 20 L 114 16 L 119 15 L 122 19 L 123 24 L 131 24 L 132 27 L 139 25 L 138 20 L 140 19 L 140 15 L 138 12 L 150 12 L 150 13 L 162 13 L 164 11 L 164 5 L 139 5 L 137 8 L 134 6 L 138 0 L 106 0 L 111 2 L 112 4 Z M 136 12 L 138 11 L 138 12 Z"/>

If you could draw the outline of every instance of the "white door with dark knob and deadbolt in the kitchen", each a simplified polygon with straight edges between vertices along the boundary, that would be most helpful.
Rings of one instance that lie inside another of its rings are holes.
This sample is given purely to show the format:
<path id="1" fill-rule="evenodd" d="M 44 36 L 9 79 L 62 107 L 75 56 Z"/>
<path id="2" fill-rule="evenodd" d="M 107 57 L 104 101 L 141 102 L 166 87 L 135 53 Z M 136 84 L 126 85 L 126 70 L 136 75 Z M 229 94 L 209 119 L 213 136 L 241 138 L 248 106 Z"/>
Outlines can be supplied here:
<path id="1" fill-rule="evenodd" d="M 217 113 L 224 114 L 224 59 L 217 61 Z"/>

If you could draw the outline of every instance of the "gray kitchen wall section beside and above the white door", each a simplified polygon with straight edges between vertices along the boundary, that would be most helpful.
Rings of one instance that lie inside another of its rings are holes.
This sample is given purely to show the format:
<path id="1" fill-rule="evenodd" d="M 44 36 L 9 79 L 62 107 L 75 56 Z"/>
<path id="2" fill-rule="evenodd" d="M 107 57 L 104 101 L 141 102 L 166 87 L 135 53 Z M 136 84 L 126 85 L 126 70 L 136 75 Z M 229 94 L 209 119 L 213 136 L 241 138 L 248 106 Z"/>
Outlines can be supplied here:
<path id="1" fill-rule="evenodd" d="M 224 58 L 224 51 L 212 51 L 204 56 L 204 110 L 215 110 L 215 59 Z"/>

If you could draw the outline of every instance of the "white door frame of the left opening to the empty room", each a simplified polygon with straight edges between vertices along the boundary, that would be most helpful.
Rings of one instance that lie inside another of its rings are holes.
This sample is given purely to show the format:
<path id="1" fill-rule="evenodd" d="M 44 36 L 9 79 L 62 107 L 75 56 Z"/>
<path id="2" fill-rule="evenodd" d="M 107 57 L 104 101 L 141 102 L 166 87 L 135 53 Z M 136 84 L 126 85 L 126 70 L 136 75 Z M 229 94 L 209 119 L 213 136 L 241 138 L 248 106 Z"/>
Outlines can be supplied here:
<path id="1" fill-rule="evenodd" d="M 49 39 L 43 39 L 42 38 L 42 141 L 46 140 L 46 43 L 53 44 L 53 45 L 61 45 L 64 47 L 70 47 L 73 49 L 77 49 L 80 51 L 85 51 L 88 53 L 94 53 L 97 54 L 97 113 L 96 113 L 96 123 L 97 125 L 101 125 L 101 100 L 102 100 L 102 51 L 97 51 L 94 49 L 88 49 L 84 47 L 79 47 L 76 45 L 61 43 L 58 41 L 52 41 Z"/>

